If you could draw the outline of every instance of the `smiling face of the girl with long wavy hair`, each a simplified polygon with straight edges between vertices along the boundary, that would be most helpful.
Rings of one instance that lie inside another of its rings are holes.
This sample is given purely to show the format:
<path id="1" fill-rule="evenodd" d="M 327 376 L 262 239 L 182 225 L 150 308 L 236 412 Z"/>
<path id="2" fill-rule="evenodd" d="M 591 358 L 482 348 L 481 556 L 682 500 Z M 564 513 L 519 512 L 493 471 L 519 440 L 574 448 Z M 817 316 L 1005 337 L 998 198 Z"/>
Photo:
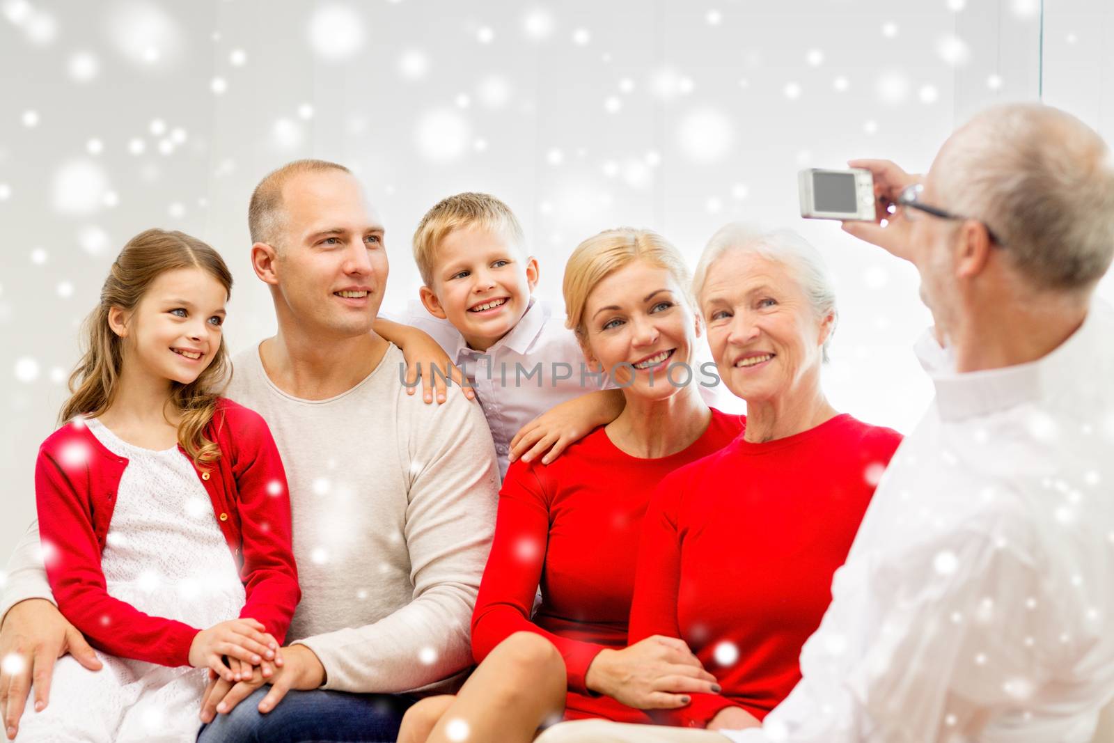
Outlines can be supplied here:
<path id="1" fill-rule="evenodd" d="M 157 276 L 130 312 L 114 307 L 109 324 L 124 339 L 125 368 L 189 384 L 221 349 L 228 292 L 202 268 Z"/>

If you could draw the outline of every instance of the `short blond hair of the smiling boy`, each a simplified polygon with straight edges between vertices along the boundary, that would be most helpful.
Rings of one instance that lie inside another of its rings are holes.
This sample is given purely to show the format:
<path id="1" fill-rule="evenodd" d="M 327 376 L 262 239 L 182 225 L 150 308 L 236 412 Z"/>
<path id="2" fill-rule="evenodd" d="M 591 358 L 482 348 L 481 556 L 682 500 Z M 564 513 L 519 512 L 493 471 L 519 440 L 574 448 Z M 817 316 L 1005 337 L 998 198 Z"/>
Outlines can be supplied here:
<path id="1" fill-rule="evenodd" d="M 433 264 L 441 242 L 452 232 L 468 227 L 499 231 L 519 247 L 526 242 L 515 213 L 495 196 L 466 192 L 442 198 L 414 231 L 414 263 L 427 286 L 433 285 Z"/>

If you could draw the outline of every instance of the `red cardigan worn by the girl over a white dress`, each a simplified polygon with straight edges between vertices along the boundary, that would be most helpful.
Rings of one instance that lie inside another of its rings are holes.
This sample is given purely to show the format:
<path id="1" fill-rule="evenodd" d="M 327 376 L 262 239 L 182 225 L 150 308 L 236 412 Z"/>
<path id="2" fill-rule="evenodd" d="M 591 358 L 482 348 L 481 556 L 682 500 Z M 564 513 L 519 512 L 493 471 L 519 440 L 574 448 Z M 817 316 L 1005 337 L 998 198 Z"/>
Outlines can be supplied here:
<path id="1" fill-rule="evenodd" d="M 301 590 L 278 450 L 258 413 L 225 399 L 206 437 L 221 447 L 221 459 L 194 469 L 240 566 L 246 599 L 240 616 L 263 623 L 282 643 Z M 189 665 L 189 645 L 201 628 L 144 614 L 109 596 L 105 585 L 100 555 L 127 466 L 80 419 L 42 443 L 35 490 L 39 536 L 52 551 L 47 578 L 58 608 L 94 647 L 166 666 Z"/>

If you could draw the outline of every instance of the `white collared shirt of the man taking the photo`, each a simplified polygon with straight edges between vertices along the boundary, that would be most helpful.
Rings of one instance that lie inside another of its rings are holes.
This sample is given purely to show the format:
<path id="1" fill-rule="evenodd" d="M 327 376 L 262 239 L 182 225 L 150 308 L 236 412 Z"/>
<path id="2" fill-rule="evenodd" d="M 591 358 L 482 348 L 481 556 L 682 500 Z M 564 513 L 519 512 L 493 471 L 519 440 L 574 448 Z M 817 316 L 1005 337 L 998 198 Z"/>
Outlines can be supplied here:
<path id="1" fill-rule="evenodd" d="M 935 346 L 935 348 L 934 348 Z M 742 743 L 1076 743 L 1114 698 L 1114 316 L 956 373 L 874 495 L 803 678 Z"/>

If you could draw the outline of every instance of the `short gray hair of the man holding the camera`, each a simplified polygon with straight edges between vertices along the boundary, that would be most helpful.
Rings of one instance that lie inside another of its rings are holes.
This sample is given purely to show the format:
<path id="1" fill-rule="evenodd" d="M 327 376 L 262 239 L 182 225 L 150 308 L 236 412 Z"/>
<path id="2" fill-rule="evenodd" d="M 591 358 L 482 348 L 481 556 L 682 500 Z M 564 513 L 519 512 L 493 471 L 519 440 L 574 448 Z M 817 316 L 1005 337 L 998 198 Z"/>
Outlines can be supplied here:
<path id="1" fill-rule="evenodd" d="M 1114 257 L 1114 156 L 1079 119 L 1040 104 L 983 111 L 932 165 L 937 198 L 985 222 L 1033 286 L 1089 293 Z"/>

